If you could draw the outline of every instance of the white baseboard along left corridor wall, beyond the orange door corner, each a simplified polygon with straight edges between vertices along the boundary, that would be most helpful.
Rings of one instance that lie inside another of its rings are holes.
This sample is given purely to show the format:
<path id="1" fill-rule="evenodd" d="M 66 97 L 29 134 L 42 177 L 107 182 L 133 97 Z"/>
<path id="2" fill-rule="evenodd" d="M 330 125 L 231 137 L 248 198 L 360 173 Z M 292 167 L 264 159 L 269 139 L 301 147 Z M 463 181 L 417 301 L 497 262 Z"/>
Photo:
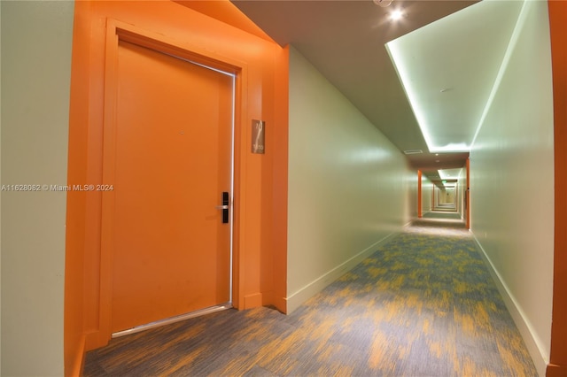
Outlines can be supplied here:
<path id="1" fill-rule="evenodd" d="M 348 271 L 352 270 L 355 265 L 358 265 L 359 263 L 361 263 L 362 260 L 368 258 L 372 253 L 374 253 L 379 245 L 390 241 L 394 235 L 399 235 L 399 232 L 393 232 L 390 235 L 386 235 L 381 240 L 374 242 L 368 248 L 356 254 L 353 258 L 346 260 L 345 262 L 331 269 L 327 273 L 323 273 L 320 277 L 318 277 L 314 281 L 311 281 L 303 288 L 298 289 L 290 296 L 287 296 L 286 313 L 290 314 L 291 312 L 296 310 L 299 307 L 299 305 L 305 303 L 307 299 L 311 298 L 312 296 L 315 296 L 315 294 L 322 291 L 322 289 L 327 287 L 331 282 L 336 281 L 339 277 L 341 277 Z"/>

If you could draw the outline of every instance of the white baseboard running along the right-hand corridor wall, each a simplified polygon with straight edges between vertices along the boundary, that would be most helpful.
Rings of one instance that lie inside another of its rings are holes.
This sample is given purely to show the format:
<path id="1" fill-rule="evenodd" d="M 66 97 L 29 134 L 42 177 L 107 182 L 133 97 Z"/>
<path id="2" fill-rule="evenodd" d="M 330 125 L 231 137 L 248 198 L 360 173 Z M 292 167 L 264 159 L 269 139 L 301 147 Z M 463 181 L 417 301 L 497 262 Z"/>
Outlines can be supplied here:
<path id="1" fill-rule="evenodd" d="M 492 275 L 493 281 L 496 283 L 496 288 L 499 290 L 502 298 L 504 299 L 504 304 L 506 304 L 512 319 L 514 319 L 514 322 L 520 331 L 520 335 L 522 335 L 522 338 L 524 339 L 525 346 L 530 352 L 530 356 L 532 357 L 533 364 L 535 365 L 538 374 L 541 377 L 545 376 L 549 360 L 545 357 L 545 352 L 542 351 L 545 348 L 542 346 L 540 338 L 536 335 L 535 331 L 533 331 L 530 321 L 524 315 L 524 311 L 520 305 L 517 304 L 516 298 L 510 293 L 508 286 L 502 280 L 500 273 L 498 273 L 498 271 L 494 268 L 494 265 L 486 254 L 484 248 L 480 242 L 478 242 L 477 236 L 474 235 L 474 233 L 472 233 L 472 235 L 478 250 L 480 250 L 480 255 L 484 259 L 485 265 L 488 266 L 488 271 Z"/>

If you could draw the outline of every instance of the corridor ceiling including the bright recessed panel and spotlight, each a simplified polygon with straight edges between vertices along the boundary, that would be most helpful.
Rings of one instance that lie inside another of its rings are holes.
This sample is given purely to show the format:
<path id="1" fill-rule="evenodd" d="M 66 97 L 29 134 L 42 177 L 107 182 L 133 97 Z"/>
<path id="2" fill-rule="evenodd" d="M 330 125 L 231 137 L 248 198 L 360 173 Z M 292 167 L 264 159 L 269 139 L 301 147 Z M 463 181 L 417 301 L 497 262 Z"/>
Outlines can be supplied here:
<path id="1" fill-rule="evenodd" d="M 400 150 L 423 150 L 408 160 L 431 176 L 465 164 L 523 4 L 231 2 L 299 50 Z M 390 19 L 394 9 L 402 19 Z"/>

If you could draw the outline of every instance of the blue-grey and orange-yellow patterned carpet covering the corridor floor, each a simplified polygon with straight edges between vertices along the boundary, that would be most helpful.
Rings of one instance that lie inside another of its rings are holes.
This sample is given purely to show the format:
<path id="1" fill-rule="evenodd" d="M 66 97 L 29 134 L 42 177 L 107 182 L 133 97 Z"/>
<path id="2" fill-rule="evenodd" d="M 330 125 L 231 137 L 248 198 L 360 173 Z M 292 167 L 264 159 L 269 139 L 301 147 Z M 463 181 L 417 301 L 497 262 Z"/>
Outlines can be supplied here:
<path id="1" fill-rule="evenodd" d="M 291 315 L 229 310 L 114 339 L 86 376 L 535 376 L 460 219 L 426 216 Z"/>

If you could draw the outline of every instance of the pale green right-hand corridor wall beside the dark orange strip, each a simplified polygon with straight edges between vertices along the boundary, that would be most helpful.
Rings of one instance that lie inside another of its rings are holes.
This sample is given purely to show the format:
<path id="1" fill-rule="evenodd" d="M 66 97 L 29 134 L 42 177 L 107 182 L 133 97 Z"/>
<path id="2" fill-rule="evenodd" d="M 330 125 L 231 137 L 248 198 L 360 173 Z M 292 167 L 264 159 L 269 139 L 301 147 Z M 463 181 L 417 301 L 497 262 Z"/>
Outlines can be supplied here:
<path id="1" fill-rule="evenodd" d="M 547 2 L 528 1 L 470 153 L 471 230 L 543 375 L 554 253 L 553 98 Z"/>

